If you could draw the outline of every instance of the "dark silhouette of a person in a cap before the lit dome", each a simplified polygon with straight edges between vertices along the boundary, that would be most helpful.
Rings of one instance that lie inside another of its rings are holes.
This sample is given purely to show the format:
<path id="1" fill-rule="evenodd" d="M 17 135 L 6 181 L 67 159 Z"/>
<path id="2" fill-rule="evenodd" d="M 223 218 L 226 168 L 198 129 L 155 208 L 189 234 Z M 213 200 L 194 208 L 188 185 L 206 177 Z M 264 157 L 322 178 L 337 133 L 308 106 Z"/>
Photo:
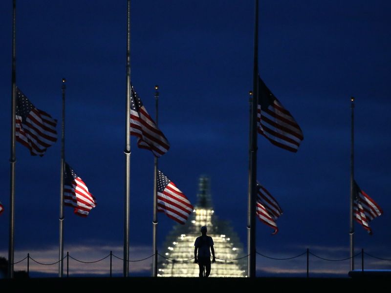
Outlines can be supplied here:
<path id="1" fill-rule="evenodd" d="M 202 226 L 202 235 L 197 237 L 194 243 L 194 262 L 199 266 L 200 277 L 208 277 L 211 273 L 211 251 L 213 255 L 212 263 L 216 262 L 215 249 L 213 248 L 213 239 L 212 237 L 206 235 L 206 231 L 206 227 Z"/>

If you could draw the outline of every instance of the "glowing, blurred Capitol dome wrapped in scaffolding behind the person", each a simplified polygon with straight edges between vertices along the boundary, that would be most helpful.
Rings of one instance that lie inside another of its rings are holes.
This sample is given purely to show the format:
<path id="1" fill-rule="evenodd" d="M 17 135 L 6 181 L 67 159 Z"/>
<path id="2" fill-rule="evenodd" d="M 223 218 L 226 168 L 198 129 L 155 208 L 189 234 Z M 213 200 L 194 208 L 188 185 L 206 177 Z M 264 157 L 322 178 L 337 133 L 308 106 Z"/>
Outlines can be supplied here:
<path id="1" fill-rule="evenodd" d="M 207 235 L 213 238 L 217 258 L 235 259 L 242 257 L 243 249 L 237 234 L 226 221 L 214 215 L 210 182 L 206 176 L 199 178 L 197 204 L 185 225 L 176 225 L 166 238 L 163 255 L 176 260 L 163 259 L 158 264 L 158 276 L 198 277 L 198 265 L 194 260 L 180 262 L 194 257 L 195 238 L 200 236 L 200 228 L 208 227 Z M 211 277 L 245 277 L 247 258 L 235 261 L 216 259 L 212 264 Z"/>

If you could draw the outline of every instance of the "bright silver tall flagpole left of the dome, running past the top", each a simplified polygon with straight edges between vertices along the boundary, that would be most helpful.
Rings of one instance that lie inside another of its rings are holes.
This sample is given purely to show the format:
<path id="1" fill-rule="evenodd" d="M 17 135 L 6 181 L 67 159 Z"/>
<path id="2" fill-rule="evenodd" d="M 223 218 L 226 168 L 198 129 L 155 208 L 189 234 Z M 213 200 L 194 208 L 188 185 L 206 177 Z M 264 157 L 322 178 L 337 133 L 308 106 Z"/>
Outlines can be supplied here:
<path id="1" fill-rule="evenodd" d="M 125 224 L 124 224 L 124 277 L 129 276 L 129 222 L 130 222 L 130 0 L 127 5 L 126 27 L 126 126 L 125 126 Z"/>

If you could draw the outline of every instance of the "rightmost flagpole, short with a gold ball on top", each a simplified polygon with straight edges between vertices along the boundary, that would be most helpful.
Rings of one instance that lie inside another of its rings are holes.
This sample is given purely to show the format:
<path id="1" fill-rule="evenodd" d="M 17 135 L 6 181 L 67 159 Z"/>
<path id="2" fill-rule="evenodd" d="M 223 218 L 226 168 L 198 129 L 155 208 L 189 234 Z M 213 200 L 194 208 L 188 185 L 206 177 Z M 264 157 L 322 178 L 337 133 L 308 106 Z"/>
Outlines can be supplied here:
<path id="1" fill-rule="evenodd" d="M 350 129 L 350 205 L 349 205 L 349 240 L 350 240 L 350 271 L 354 270 L 354 218 L 353 218 L 353 201 L 354 201 L 354 97 L 351 101 L 351 129 Z"/>

